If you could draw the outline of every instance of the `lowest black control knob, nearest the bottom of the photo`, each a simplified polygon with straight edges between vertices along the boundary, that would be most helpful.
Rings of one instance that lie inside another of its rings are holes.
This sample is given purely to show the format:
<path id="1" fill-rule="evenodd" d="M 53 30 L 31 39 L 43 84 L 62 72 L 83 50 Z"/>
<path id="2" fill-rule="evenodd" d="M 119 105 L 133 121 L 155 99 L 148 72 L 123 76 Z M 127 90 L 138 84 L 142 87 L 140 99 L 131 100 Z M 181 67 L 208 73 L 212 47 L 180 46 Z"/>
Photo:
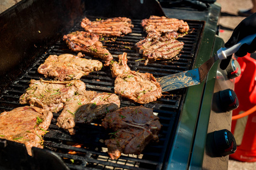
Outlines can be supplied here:
<path id="1" fill-rule="evenodd" d="M 218 130 L 213 133 L 214 147 L 217 155 L 226 156 L 234 154 L 237 150 L 236 139 L 233 134 L 227 130 Z"/>

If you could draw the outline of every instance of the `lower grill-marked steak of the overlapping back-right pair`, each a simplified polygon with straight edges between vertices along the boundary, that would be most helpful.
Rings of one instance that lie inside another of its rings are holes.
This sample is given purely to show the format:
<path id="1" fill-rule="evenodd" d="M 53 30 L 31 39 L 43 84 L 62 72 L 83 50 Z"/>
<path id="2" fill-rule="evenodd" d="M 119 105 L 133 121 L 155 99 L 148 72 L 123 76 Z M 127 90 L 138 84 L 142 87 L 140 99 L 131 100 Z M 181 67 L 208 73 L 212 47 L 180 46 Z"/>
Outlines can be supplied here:
<path id="1" fill-rule="evenodd" d="M 183 49 L 183 45 L 184 42 L 166 36 L 146 38 L 136 44 L 139 53 L 147 58 L 144 65 L 147 65 L 148 60 L 156 61 L 158 58 L 172 59 L 176 57 Z"/>

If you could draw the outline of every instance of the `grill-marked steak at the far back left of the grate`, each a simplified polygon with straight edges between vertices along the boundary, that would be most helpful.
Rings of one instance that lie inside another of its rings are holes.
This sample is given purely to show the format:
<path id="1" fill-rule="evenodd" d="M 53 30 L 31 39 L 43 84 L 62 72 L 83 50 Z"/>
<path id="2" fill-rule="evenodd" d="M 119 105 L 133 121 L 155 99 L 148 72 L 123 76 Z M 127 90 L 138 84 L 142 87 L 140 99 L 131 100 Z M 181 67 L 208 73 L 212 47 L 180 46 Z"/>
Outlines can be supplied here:
<path id="1" fill-rule="evenodd" d="M 128 33 L 131 33 L 131 28 L 134 27 L 131 24 L 131 20 L 125 17 L 101 19 L 98 21 L 90 21 L 88 18 L 82 19 L 81 27 L 86 32 L 96 33 L 100 36 L 115 36 L 119 37 Z"/>

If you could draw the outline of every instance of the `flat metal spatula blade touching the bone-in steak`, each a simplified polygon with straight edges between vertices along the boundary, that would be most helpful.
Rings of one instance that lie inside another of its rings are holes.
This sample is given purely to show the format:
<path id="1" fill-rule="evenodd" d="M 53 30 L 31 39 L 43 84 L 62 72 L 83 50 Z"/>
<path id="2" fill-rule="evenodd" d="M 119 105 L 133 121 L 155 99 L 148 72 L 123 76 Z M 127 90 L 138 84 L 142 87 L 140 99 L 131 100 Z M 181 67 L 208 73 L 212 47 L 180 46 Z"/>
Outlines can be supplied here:
<path id="1" fill-rule="evenodd" d="M 199 69 L 163 76 L 157 81 L 163 92 L 194 86 L 200 84 Z"/>

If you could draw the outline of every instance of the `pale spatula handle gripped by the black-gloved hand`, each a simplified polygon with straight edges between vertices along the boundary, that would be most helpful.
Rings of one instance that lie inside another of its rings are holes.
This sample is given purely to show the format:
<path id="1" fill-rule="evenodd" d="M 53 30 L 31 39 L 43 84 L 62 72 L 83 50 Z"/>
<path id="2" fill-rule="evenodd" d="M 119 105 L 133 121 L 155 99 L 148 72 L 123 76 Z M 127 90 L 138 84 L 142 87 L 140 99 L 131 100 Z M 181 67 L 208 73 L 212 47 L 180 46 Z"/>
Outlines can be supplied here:
<path id="1" fill-rule="evenodd" d="M 226 59 L 227 56 L 230 56 L 234 53 L 236 53 L 238 51 L 238 49 L 241 47 L 241 45 L 243 44 L 251 44 L 251 41 L 253 41 L 253 39 L 256 37 L 256 33 L 253 35 L 249 35 L 245 38 L 243 38 L 242 40 L 240 40 L 237 44 L 231 46 L 230 48 L 220 48 L 217 51 L 217 55 L 219 59 Z"/>

